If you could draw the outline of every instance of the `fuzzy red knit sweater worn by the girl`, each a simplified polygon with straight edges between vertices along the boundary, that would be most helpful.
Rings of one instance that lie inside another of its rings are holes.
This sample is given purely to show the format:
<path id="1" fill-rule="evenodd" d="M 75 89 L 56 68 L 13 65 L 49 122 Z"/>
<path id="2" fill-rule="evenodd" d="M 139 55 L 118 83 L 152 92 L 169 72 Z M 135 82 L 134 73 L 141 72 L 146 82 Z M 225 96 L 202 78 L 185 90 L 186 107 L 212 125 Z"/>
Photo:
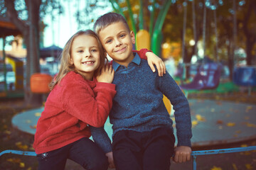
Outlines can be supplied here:
<path id="1" fill-rule="evenodd" d="M 142 58 L 148 50 L 140 50 Z M 59 149 L 82 137 L 90 137 L 88 125 L 102 127 L 112 108 L 115 85 L 87 81 L 69 72 L 47 98 L 36 126 L 36 154 Z"/>

